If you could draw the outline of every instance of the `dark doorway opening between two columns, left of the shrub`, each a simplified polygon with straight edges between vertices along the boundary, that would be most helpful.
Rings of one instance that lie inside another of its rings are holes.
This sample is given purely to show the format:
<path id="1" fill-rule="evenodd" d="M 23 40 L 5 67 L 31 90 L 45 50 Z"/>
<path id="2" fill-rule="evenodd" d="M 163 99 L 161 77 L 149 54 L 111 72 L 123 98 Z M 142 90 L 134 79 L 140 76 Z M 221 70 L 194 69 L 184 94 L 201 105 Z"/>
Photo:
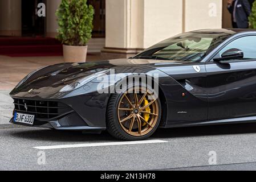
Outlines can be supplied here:
<path id="1" fill-rule="evenodd" d="M 45 36 L 45 17 L 36 14 L 38 3 L 46 0 L 22 0 L 22 36 Z"/>

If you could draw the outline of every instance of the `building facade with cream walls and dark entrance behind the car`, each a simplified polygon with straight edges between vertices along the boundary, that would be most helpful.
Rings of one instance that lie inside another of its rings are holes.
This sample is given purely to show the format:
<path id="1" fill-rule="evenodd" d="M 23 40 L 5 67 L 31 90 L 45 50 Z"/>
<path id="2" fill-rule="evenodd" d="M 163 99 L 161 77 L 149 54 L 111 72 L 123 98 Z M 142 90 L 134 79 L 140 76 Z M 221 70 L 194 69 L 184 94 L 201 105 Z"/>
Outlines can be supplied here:
<path id="1" fill-rule="evenodd" d="M 61 0 L 0 0 L 0 36 L 56 36 Z M 46 17 L 35 12 L 46 5 Z M 230 28 L 227 0 L 88 0 L 95 7 L 89 52 L 129 57 L 181 32 Z"/>

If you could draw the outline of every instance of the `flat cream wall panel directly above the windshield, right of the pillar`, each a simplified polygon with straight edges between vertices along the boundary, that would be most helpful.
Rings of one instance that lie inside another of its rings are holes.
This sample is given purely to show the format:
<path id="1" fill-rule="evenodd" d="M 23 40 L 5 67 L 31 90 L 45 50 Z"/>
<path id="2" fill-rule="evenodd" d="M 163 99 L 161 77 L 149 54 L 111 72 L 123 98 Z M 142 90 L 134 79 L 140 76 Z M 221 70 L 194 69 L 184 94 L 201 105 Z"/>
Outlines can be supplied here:
<path id="1" fill-rule="evenodd" d="M 143 48 L 182 32 L 182 5 L 181 0 L 144 0 Z"/>

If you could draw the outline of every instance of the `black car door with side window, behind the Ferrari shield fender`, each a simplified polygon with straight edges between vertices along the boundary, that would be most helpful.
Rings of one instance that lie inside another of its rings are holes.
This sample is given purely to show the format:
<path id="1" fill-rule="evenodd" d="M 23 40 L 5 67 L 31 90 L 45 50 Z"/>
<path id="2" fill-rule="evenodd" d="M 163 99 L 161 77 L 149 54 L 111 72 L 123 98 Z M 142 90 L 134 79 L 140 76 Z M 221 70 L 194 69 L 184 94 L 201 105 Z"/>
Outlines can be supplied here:
<path id="1" fill-rule="evenodd" d="M 232 48 L 243 51 L 243 59 L 205 65 L 210 121 L 256 115 L 256 35 L 233 40 L 216 57 Z"/>

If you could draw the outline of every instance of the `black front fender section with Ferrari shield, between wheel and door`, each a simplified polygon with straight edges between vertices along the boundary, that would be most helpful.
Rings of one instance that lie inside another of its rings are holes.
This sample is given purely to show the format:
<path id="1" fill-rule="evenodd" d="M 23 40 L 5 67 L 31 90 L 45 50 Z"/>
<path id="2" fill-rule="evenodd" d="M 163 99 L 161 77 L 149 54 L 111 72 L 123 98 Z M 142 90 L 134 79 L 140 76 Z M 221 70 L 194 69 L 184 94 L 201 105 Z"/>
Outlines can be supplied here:
<path id="1" fill-rule="evenodd" d="M 162 85 L 167 98 L 168 125 L 206 121 L 208 99 L 205 92 L 205 63 L 177 61 L 177 63 L 157 64 L 155 67 L 173 78 L 168 78 L 168 81 Z"/>

